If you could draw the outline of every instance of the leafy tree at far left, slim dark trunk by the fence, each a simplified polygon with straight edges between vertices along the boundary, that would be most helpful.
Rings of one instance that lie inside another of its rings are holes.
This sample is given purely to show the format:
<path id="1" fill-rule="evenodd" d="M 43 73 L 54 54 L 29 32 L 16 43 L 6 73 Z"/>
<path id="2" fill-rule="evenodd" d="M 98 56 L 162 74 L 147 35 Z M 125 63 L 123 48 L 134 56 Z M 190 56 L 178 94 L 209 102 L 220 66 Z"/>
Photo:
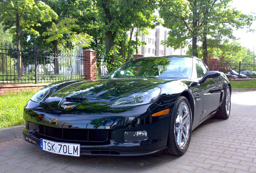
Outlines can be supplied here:
<path id="1" fill-rule="evenodd" d="M 16 35 L 18 76 L 22 79 L 21 72 L 21 30 L 38 33 L 31 26 L 40 25 L 39 20 L 47 22 L 57 18 L 56 13 L 45 3 L 35 0 L 1 0 L 0 22 L 11 29 Z"/>

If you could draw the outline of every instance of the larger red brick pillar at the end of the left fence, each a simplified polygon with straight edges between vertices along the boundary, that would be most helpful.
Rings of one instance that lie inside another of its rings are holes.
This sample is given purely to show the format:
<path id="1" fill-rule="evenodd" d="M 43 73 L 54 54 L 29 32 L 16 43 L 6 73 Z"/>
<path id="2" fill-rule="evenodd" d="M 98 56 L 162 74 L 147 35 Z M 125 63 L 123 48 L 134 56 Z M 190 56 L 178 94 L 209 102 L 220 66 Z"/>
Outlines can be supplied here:
<path id="1" fill-rule="evenodd" d="M 96 51 L 87 49 L 84 52 L 84 75 L 86 79 L 96 79 Z"/>

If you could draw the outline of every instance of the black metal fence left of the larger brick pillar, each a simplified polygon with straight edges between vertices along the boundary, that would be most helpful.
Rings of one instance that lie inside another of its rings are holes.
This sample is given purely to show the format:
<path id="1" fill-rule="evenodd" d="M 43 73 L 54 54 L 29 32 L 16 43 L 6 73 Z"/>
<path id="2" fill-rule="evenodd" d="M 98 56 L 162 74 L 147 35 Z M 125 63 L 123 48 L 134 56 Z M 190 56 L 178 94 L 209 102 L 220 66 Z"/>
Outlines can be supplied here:
<path id="1" fill-rule="evenodd" d="M 26 48 L 19 54 L 14 46 L 1 44 L 0 83 L 38 83 L 84 79 L 83 52 L 57 52 L 52 49 Z M 19 73 L 18 56 L 21 56 Z M 19 73 L 19 74 L 18 74 Z"/>

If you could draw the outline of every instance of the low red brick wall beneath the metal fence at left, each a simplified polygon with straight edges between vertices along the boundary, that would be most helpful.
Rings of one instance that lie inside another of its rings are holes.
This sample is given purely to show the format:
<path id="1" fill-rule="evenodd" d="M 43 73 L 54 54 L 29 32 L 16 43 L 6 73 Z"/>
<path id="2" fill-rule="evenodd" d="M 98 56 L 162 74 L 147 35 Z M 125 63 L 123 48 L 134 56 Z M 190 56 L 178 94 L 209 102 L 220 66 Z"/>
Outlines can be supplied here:
<path id="1" fill-rule="evenodd" d="M 39 90 L 50 83 L 40 83 L 40 84 L 0 84 L 0 95 L 5 95 L 8 92 L 18 93 L 21 90 Z"/>

